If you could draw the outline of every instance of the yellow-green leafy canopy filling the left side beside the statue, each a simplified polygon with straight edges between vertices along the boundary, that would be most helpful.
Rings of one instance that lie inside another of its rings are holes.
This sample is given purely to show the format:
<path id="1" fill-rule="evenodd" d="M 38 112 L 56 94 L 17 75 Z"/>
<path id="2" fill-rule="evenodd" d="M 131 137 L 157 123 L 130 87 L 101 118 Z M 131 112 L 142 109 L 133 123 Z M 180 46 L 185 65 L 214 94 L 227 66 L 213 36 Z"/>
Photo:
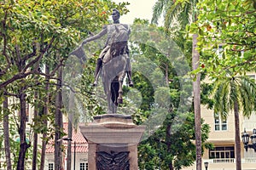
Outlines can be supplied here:
<path id="1" fill-rule="evenodd" d="M 35 116 L 29 125 L 31 133 L 25 136 L 46 132 L 48 136 L 44 140 L 54 138 L 55 129 L 47 127 L 44 121 L 54 127 L 56 71 L 65 64 L 68 54 L 81 39 L 108 24 L 113 8 L 119 8 L 121 14 L 127 13 L 126 4 L 110 0 L 8 0 L 0 3 L 0 104 L 2 106 L 3 95 L 15 99 L 24 93 L 26 103 L 39 110 L 39 116 Z M 49 72 L 45 71 L 47 67 Z M 46 90 L 48 83 L 50 86 Z M 34 99 L 35 91 L 38 99 Z M 45 102 L 48 95 L 49 103 Z M 45 105 L 48 105 L 48 115 L 41 109 Z M 15 114 L 20 110 L 20 104 L 15 100 L 9 107 L 15 120 L 10 129 L 18 133 L 20 122 L 25 121 Z M 20 116 L 26 117 L 24 114 L 25 111 L 20 111 Z M 16 163 L 19 152 L 15 151 L 19 151 L 20 146 L 17 145 L 18 149 L 14 146 L 12 144 L 11 150 Z"/>

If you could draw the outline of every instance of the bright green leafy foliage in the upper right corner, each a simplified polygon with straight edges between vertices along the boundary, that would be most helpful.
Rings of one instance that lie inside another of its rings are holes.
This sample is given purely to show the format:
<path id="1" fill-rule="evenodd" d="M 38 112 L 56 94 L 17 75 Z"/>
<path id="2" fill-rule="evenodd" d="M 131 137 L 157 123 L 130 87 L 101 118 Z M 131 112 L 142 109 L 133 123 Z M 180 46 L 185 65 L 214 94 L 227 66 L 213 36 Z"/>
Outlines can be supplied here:
<path id="1" fill-rule="evenodd" d="M 203 9 L 195 25 L 199 46 L 211 54 L 202 58 L 208 75 L 218 78 L 255 71 L 255 1 L 203 0 L 198 8 Z"/>

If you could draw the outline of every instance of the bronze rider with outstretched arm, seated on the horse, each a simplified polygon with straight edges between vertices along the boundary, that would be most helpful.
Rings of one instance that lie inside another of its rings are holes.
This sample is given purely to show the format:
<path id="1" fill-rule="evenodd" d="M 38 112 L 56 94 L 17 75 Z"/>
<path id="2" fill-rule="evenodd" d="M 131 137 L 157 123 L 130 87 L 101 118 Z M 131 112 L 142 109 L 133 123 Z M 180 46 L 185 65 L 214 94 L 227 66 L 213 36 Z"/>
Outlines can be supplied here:
<path id="1" fill-rule="evenodd" d="M 108 39 L 107 39 L 105 48 L 102 50 L 102 53 L 100 54 L 99 59 L 97 59 L 96 71 L 95 71 L 95 82 L 93 82 L 93 86 L 97 85 L 97 79 L 99 77 L 99 71 L 102 68 L 102 59 L 104 58 L 105 54 L 107 54 L 108 49 L 110 48 L 110 41 L 109 40 L 113 35 L 113 32 L 115 30 L 115 26 L 120 25 L 119 24 L 119 18 L 120 18 L 119 11 L 117 9 L 113 9 L 113 13 L 112 13 L 113 24 L 108 25 L 108 26 L 103 26 L 101 32 L 99 32 L 98 34 L 96 34 L 93 37 L 86 38 L 82 42 L 82 46 L 83 46 L 86 42 L 96 40 L 96 39 L 108 34 Z M 130 34 L 131 31 L 129 29 L 129 26 L 125 25 L 125 24 L 122 24 L 122 26 L 125 26 L 125 28 L 129 30 L 129 34 Z M 127 77 L 128 77 L 129 86 L 132 87 L 133 82 L 131 81 L 131 63 L 130 63 L 130 59 L 129 59 L 129 49 L 128 49 L 128 47 L 125 48 L 125 54 L 128 54 L 127 65 L 126 65 L 126 67 L 127 67 L 126 73 L 127 73 Z"/>

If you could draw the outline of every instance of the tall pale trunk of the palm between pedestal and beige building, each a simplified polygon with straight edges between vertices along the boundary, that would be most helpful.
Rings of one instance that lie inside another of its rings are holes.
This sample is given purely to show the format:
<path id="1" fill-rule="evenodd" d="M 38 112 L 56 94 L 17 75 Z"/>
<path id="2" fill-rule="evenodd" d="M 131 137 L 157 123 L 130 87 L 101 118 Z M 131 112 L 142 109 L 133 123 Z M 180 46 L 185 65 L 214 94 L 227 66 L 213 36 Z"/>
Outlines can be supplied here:
<path id="1" fill-rule="evenodd" d="M 197 51 L 197 34 L 193 35 L 192 65 L 195 71 L 200 62 L 200 54 Z M 196 170 L 201 170 L 201 74 L 196 75 L 193 82 L 194 109 L 195 109 L 195 147 L 196 147 Z"/>

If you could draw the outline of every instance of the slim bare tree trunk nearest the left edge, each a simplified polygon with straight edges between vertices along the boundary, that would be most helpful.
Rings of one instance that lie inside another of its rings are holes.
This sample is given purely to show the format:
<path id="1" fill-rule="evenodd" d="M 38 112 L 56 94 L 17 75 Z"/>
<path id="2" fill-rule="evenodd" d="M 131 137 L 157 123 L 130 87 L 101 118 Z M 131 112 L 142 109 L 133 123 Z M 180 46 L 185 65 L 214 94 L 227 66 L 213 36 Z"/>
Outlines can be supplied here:
<path id="1" fill-rule="evenodd" d="M 3 101 L 3 136 L 4 136 L 4 150 L 6 159 L 6 170 L 12 170 L 10 158 L 10 144 L 9 144 L 9 111 L 8 111 L 8 98 L 4 97 Z"/>

